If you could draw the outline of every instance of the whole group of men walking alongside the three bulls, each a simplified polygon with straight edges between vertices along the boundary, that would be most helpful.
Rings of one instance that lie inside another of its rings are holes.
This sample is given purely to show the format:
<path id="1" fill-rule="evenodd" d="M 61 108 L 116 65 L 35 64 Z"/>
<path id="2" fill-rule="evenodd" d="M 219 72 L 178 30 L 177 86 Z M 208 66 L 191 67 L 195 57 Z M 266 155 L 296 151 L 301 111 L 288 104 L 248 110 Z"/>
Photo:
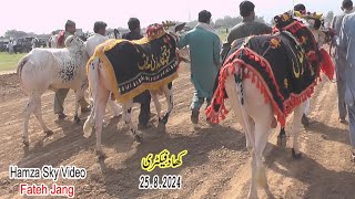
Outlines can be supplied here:
<path id="1" fill-rule="evenodd" d="M 338 113 L 339 122 L 346 123 L 346 115 L 349 121 L 349 137 L 352 145 L 352 160 L 355 160 L 355 13 L 353 13 L 352 0 L 342 2 L 343 13 L 334 17 L 332 29 L 336 32 L 333 38 L 335 46 L 334 61 L 336 64 L 336 80 L 338 94 Z M 294 11 L 306 13 L 304 4 L 296 4 Z M 199 13 L 199 23 L 195 28 L 183 34 L 178 48 L 182 49 L 189 45 L 191 57 L 191 82 L 195 88 L 191 102 L 191 122 L 199 123 L 200 108 L 206 102 L 207 106 L 213 96 L 214 81 L 221 67 L 222 56 L 225 54 L 225 49 L 236 39 L 248 35 L 270 34 L 272 28 L 265 23 L 255 21 L 255 4 L 251 1 L 240 3 L 240 14 L 243 21 L 236 24 L 227 35 L 227 44 L 222 49 L 222 41 L 214 29 L 210 25 L 211 12 L 203 10 Z M 122 39 L 139 40 L 143 38 L 141 34 L 140 21 L 136 18 L 131 18 L 128 21 L 130 29 L 129 33 L 122 35 Z M 105 36 L 106 23 L 98 21 L 94 23 L 94 35 L 88 39 L 88 54 L 93 54 L 94 46 L 104 42 L 109 38 Z M 75 23 L 68 20 L 65 31 L 59 35 L 58 45 L 63 48 L 63 41 L 74 34 Z M 90 49 L 90 50 L 89 50 Z M 221 53 L 222 52 L 222 53 Z M 69 90 L 59 90 L 54 97 L 54 113 L 58 118 L 65 117 L 63 113 L 63 102 Z M 152 113 L 150 111 L 151 95 L 149 91 L 134 97 L 135 103 L 141 104 L 139 115 L 139 128 L 148 128 Z M 89 112 L 90 106 L 85 100 L 80 102 L 81 112 Z M 310 124 L 307 113 L 310 112 L 310 101 L 302 118 L 302 123 L 307 126 Z"/>

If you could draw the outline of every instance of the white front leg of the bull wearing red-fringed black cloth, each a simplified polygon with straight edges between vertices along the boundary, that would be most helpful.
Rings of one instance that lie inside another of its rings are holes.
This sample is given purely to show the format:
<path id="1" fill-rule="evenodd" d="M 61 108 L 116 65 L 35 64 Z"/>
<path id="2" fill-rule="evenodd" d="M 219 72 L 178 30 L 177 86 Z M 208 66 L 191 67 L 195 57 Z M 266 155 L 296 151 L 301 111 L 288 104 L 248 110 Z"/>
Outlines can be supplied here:
<path id="1" fill-rule="evenodd" d="M 292 148 L 292 156 L 295 159 L 301 157 L 300 148 L 298 148 L 298 136 L 301 130 L 301 119 L 303 116 L 303 111 L 305 108 L 305 103 L 297 106 L 294 111 L 294 118 L 292 123 L 292 135 L 293 135 L 293 148 Z"/>

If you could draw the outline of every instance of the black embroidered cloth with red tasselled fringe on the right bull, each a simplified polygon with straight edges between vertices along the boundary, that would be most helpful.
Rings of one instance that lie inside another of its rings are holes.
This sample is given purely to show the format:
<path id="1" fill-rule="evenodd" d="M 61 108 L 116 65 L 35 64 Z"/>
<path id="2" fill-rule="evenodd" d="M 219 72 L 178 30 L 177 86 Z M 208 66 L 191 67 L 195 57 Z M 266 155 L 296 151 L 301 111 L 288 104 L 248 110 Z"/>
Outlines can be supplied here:
<path id="1" fill-rule="evenodd" d="M 231 45 L 206 111 L 212 122 L 219 123 L 219 116 L 224 118 L 227 113 L 224 81 L 227 69 L 234 71 L 235 63 L 242 65 L 236 72 L 236 82 L 252 78 L 265 102 L 272 103 L 282 126 L 287 114 L 313 93 L 320 66 L 317 44 L 311 30 L 288 14 L 275 17 L 275 22 L 273 34 L 235 40 Z"/>

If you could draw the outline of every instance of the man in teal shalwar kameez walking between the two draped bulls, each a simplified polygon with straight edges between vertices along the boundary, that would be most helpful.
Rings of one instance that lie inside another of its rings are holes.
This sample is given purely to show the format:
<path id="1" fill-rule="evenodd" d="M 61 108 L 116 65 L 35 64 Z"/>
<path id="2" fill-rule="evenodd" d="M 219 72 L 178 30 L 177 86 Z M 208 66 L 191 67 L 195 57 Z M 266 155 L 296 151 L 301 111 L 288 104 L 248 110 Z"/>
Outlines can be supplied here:
<path id="1" fill-rule="evenodd" d="M 214 80 L 220 69 L 221 39 L 210 25 L 211 12 L 199 13 L 196 27 L 183 35 L 178 48 L 190 46 L 191 82 L 195 87 L 191 103 L 191 122 L 199 123 L 199 114 L 204 100 L 207 106 L 213 96 Z"/>

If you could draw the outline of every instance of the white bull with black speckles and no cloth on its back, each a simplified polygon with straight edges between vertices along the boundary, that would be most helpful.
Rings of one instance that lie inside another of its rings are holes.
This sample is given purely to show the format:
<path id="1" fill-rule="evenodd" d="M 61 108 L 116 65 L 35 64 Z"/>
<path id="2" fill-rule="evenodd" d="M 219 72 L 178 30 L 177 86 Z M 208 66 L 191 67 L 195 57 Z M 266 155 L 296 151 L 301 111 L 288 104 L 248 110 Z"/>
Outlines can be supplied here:
<path id="1" fill-rule="evenodd" d="M 29 145 L 28 124 L 32 113 L 38 118 L 47 135 L 52 132 L 43 122 L 41 113 L 41 95 L 47 90 L 72 88 L 75 91 L 75 116 L 78 123 L 79 100 L 84 97 L 88 88 L 85 64 L 89 56 L 85 45 L 78 36 L 68 36 L 64 49 L 34 49 L 22 57 L 18 64 L 20 83 L 29 95 L 23 109 L 23 144 Z"/>

